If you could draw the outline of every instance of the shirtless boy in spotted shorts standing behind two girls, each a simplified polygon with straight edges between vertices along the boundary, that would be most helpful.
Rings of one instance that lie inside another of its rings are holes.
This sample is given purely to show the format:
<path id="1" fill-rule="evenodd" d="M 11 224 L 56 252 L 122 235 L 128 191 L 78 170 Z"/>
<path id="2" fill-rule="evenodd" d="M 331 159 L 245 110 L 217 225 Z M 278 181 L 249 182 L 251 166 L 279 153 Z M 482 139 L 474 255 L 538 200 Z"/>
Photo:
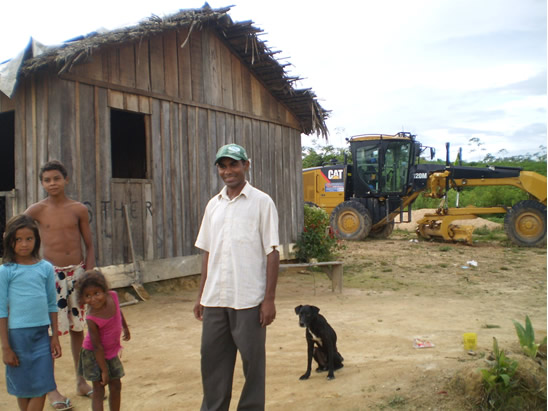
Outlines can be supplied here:
<path id="1" fill-rule="evenodd" d="M 77 302 L 75 283 L 85 269 L 95 267 L 88 209 L 65 195 L 69 179 L 66 168 L 59 161 L 50 161 L 40 169 L 40 182 L 48 196 L 31 205 L 25 214 L 38 222 L 43 257 L 55 268 L 59 334 L 70 333 L 76 370 L 84 340 L 85 313 L 84 306 Z M 91 398 L 93 391 L 89 384 L 83 377 L 76 375 L 76 378 L 77 394 Z M 58 390 L 48 393 L 48 399 L 55 409 L 72 408 L 70 400 Z"/>

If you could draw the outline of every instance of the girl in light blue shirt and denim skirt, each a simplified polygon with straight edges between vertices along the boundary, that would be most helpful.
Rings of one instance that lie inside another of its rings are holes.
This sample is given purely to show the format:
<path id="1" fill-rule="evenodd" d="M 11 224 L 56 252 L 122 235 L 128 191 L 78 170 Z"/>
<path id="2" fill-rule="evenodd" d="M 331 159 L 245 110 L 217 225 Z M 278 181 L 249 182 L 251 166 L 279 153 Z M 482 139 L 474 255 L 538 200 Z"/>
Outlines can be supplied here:
<path id="1" fill-rule="evenodd" d="M 0 266 L 0 342 L 8 393 L 24 411 L 44 408 L 46 394 L 56 388 L 53 359 L 61 356 L 53 266 L 39 251 L 34 220 L 12 217 Z"/>

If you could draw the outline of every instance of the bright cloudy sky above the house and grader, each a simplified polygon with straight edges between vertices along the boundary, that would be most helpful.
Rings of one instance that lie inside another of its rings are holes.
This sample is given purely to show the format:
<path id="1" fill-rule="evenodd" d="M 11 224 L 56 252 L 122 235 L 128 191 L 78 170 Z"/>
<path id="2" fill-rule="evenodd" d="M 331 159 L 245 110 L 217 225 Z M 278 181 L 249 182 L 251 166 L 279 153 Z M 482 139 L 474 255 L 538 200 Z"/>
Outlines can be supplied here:
<path id="1" fill-rule="evenodd" d="M 6 2 L 5 2 L 6 3 Z M 210 0 L 252 20 L 286 71 L 330 117 L 327 142 L 407 131 L 445 159 L 532 155 L 547 146 L 546 0 Z M 131 4 L 131 6 L 127 6 Z M 43 0 L 3 4 L 0 62 L 46 45 L 204 1 Z M 313 138 L 316 137 L 316 138 Z"/>

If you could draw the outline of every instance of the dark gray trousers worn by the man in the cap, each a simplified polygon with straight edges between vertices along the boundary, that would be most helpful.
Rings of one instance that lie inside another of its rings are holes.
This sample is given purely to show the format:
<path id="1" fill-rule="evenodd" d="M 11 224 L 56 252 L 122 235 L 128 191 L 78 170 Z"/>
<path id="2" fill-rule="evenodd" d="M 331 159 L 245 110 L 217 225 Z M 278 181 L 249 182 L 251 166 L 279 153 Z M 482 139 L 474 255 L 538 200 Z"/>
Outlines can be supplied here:
<path id="1" fill-rule="evenodd" d="M 201 411 L 228 411 L 238 351 L 245 377 L 238 411 L 264 410 L 265 342 L 266 327 L 259 322 L 259 307 L 246 310 L 204 307 Z"/>

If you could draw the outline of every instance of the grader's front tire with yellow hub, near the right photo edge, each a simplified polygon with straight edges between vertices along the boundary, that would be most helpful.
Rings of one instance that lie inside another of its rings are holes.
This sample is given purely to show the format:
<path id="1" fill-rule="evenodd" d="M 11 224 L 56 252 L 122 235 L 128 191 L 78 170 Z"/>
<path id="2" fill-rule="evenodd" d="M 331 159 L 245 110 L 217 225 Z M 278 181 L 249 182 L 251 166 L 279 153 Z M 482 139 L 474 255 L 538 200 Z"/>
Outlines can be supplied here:
<path id="1" fill-rule="evenodd" d="M 523 247 L 537 247 L 546 242 L 546 206 L 525 200 L 515 204 L 504 218 L 508 238 Z"/>

